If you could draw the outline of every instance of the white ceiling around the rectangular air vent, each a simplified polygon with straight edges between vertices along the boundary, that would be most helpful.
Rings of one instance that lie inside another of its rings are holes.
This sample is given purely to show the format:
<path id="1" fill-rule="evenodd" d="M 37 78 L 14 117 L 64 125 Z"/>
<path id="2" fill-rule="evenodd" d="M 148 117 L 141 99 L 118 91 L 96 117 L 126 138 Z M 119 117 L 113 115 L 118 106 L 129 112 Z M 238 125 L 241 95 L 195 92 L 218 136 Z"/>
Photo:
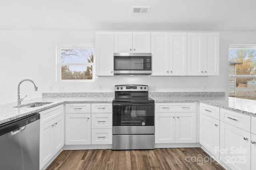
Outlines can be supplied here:
<path id="1" fill-rule="evenodd" d="M 0 29 L 256 31 L 256 0 L 1 0 Z"/>

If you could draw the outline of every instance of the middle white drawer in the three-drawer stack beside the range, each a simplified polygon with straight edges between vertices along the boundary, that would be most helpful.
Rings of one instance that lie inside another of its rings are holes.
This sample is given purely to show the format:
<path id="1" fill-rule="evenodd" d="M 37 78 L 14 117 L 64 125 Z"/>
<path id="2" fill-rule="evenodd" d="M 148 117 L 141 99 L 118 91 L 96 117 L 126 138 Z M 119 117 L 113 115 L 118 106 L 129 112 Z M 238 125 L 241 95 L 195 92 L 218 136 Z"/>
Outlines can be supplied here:
<path id="1" fill-rule="evenodd" d="M 92 129 L 112 129 L 112 113 L 92 113 Z"/>

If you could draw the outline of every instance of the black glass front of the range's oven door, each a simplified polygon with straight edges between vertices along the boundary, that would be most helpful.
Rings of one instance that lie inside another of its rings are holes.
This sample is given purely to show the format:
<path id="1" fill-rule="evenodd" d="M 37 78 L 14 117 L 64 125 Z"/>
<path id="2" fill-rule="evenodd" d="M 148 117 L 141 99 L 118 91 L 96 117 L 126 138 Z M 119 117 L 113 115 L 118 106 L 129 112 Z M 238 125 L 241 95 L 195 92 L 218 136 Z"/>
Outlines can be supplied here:
<path id="1" fill-rule="evenodd" d="M 113 126 L 154 126 L 154 105 L 113 106 Z"/>

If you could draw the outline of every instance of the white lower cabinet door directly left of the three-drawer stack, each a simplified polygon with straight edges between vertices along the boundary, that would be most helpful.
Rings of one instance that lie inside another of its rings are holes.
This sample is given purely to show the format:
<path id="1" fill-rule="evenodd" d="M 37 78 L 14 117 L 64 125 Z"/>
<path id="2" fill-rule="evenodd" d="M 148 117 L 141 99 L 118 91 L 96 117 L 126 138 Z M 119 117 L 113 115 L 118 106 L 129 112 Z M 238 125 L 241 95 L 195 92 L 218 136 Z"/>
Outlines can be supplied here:
<path id="1" fill-rule="evenodd" d="M 91 114 L 66 114 L 66 145 L 91 144 Z"/>

